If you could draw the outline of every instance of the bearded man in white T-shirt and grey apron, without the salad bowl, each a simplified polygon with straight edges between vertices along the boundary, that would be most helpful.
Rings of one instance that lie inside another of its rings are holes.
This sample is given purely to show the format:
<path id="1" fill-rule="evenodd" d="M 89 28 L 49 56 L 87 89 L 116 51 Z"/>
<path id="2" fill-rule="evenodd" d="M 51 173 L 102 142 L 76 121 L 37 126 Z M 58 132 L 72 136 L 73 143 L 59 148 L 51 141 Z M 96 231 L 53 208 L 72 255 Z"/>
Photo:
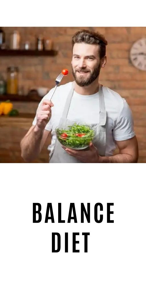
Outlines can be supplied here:
<path id="1" fill-rule="evenodd" d="M 100 33 L 81 30 L 72 37 L 72 74 L 75 82 L 53 89 L 42 99 L 32 127 L 21 141 L 22 157 L 33 161 L 51 132 L 50 163 L 136 163 L 138 143 L 131 110 L 121 96 L 98 83 L 106 64 L 107 41 Z M 92 124 L 96 138 L 88 150 L 62 147 L 55 136 L 59 125 Z M 116 148 L 119 154 L 113 155 Z"/>

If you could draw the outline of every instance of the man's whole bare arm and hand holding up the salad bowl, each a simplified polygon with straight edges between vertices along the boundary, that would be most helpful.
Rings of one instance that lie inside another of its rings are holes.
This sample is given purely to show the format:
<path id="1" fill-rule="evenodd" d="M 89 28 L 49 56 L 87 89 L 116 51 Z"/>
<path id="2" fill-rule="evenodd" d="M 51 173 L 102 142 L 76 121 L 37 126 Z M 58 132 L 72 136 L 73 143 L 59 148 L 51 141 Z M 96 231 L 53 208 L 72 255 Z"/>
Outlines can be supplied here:
<path id="1" fill-rule="evenodd" d="M 62 146 L 65 151 L 79 159 L 83 163 L 137 163 L 138 161 L 138 142 L 134 136 L 124 141 L 116 141 L 119 147 L 119 154 L 114 156 L 100 156 L 98 149 L 90 143 L 89 150 L 72 150 Z"/>

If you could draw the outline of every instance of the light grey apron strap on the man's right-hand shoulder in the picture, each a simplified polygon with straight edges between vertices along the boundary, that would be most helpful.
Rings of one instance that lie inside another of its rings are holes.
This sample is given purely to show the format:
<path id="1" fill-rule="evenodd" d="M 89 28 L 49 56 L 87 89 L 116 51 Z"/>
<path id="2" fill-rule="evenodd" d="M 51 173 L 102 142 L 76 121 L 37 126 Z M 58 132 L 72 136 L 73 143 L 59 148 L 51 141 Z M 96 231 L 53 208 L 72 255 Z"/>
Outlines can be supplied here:
<path id="1" fill-rule="evenodd" d="M 105 126 L 106 124 L 106 119 L 107 119 L 107 112 L 105 110 L 105 99 L 104 99 L 104 94 L 103 94 L 103 89 L 102 85 L 99 84 L 99 123 L 100 126 Z"/>

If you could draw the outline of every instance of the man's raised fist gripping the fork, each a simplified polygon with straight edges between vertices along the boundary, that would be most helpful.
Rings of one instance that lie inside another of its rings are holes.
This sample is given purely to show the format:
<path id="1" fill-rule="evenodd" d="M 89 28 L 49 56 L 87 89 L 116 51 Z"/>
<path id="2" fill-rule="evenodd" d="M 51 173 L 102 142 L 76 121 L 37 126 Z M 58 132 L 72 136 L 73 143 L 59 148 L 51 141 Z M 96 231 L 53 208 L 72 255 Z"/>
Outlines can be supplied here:
<path id="1" fill-rule="evenodd" d="M 51 107 L 53 103 L 50 100 L 44 99 L 36 112 L 36 126 L 44 130 L 46 124 L 51 119 Z"/>

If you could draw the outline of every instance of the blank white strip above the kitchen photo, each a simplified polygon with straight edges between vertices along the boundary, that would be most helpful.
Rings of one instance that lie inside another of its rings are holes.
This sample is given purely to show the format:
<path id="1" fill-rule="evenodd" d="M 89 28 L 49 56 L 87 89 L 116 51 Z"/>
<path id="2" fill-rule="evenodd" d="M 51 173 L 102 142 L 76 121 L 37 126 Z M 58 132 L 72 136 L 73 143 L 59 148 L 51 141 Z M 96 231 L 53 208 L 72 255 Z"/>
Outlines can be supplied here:
<path id="1" fill-rule="evenodd" d="M 7 0 L 1 3 L 2 26 L 145 26 L 143 0 Z"/>

